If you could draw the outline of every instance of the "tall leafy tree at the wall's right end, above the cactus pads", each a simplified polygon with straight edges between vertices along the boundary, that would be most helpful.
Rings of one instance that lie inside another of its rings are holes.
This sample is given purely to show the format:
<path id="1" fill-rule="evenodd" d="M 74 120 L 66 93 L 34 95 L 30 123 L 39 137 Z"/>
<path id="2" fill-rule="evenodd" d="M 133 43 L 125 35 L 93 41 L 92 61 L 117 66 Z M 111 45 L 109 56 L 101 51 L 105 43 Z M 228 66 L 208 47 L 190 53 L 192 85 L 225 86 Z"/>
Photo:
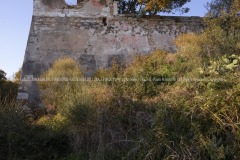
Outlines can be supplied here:
<path id="1" fill-rule="evenodd" d="M 219 4 L 217 3 L 219 2 Z M 216 0 L 216 6 L 221 8 L 220 0 Z M 215 10 L 211 9 L 208 16 L 205 18 L 206 30 L 205 30 L 205 49 L 208 54 L 240 54 L 240 21 L 237 13 L 240 9 L 240 0 L 232 1 L 229 10 Z M 229 2 L 230 3 L 230 2 Z M 225 6 L 225 8 L 227 8 Z M 216 17 L 217 16 L 217 17 Z"/>

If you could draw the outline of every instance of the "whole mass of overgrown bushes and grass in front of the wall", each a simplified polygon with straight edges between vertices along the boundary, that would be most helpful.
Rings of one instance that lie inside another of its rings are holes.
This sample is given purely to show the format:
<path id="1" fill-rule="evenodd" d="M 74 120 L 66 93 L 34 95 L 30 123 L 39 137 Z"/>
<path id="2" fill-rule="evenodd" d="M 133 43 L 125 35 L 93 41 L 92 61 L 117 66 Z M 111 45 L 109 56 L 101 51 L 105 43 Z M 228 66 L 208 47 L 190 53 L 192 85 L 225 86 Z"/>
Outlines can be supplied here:
<path id="1" fill-rule="evenodd" d="M 180 35 L 177 53 L 113 61 L 91 81 L 57 60 L 39 83 L 44 114 L 2 100 L 1 158 L 239 159 L 239 21 L 226 16 Z"/>

